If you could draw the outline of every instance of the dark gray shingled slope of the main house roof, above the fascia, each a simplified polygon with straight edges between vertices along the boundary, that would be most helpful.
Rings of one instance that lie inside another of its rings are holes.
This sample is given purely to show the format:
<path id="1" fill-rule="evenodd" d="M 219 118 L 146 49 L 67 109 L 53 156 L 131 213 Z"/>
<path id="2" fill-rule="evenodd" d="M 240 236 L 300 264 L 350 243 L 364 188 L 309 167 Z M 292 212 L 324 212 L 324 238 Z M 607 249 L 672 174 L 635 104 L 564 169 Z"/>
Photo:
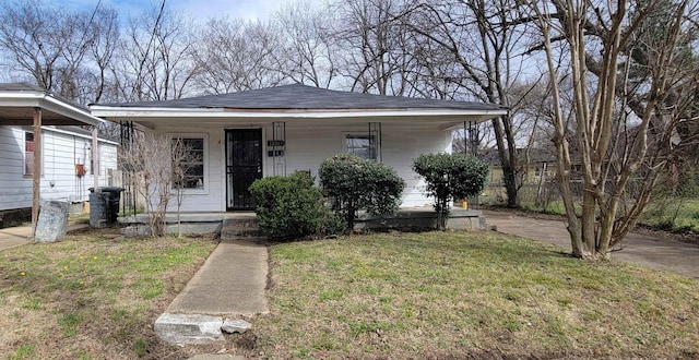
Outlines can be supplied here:
<path id="1" fill-rule="evenodd" d="M 139 108 L 228 108 L 228 109 L 455 109 L 502 110 L 494 104 L 449 101 L 400 96 L 348 93 L 303 84 L 283 85 L 240 93 L 208 95 L 165 101 L 99 104 Z"/>

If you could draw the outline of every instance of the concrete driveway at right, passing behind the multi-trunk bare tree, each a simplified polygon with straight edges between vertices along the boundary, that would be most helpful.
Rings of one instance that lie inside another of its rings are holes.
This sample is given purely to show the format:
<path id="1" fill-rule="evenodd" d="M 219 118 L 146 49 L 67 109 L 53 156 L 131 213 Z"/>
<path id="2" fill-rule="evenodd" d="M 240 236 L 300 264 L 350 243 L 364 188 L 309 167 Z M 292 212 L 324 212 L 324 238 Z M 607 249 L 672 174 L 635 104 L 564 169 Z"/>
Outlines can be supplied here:
<path id="1" fill-rule="evenodd" d="M 533 218 L 505 211 L 486 209 L 483 214 L 487 225 L 497 226 L 499 232 L 542 240 L 571 251 L 570 236 L 561 220 Z M 629 232 L 617 248 L 621 251 L 613 252 L 613 259 L 699 279 L 699 245 Z"/>

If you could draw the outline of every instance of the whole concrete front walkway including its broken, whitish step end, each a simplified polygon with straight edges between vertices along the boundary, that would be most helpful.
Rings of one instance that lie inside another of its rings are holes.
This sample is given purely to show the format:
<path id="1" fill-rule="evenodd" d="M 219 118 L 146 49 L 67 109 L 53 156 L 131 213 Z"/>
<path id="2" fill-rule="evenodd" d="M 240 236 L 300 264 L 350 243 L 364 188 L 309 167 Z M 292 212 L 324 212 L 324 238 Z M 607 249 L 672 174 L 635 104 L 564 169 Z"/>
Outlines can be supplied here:
<path id="1" fill-rule="evenodd" d="M 224 333 L 248 331 L 251 317 L 269 312 L 266 276 L 266 247 L 244 241 L 218 243 L 155 321 L 155 333 L 167 343 L 189 345 L 222 343 Z"/>

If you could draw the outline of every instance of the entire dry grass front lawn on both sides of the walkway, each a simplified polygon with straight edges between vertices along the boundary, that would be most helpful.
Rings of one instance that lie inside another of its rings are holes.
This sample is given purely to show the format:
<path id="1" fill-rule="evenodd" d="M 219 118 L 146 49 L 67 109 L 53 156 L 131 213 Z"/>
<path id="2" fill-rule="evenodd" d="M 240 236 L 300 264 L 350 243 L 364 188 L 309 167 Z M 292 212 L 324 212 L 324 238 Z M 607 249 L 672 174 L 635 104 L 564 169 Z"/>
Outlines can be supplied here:
<path id="1" fill-rule="evenodd" d="M 1 359 L 699 358 L 696 280 L 493 232 L 272 245 L 271 313 L 174 347 L 153 322 L 214 242 L 114 232 L 0 252 Z"/>

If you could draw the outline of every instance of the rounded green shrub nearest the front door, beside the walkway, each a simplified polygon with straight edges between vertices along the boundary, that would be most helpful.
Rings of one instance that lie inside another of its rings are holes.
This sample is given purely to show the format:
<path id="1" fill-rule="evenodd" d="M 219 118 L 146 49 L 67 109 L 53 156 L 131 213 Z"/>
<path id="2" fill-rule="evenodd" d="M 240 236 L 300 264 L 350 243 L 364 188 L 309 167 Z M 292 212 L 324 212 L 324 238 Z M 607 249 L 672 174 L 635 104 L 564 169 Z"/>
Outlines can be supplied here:
<path id="1" fill-rule="evenodd" d="M 306 172 L 268 177 L 250 185 L 260 230 L 273 240 L 289 240 L 323 232 L 328 209 L 322 192 Z"/>

